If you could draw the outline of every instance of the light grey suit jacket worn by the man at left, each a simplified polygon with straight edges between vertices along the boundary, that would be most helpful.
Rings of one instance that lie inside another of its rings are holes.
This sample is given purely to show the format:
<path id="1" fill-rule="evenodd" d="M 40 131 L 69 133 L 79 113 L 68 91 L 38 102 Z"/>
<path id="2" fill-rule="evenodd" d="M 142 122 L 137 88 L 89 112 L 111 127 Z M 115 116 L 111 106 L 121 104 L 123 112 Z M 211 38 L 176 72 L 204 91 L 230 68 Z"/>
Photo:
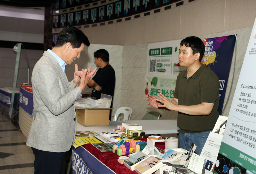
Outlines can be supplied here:
<path id="1" fill-rule="evenodd" d="M 34 119 L 27 146 L 49 152 L 65 152 L 74 143 L 76 114 L 73 103 L 81 89 L 68 82 L 58 61 L 44 51 L 32 73 Z"/>

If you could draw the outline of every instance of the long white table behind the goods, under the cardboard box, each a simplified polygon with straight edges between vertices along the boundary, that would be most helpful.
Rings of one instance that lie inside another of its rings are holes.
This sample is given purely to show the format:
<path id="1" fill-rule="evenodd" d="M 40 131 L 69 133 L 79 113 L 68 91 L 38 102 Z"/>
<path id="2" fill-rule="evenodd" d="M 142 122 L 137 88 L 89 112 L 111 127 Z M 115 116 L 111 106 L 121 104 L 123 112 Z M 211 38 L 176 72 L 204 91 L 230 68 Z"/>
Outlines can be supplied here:
<path id="1" fill-rule="evenodd" d="M 146 134 L 169 134 L 179 133 L 177 120 L 129 120 L 129 121 L 110 121 L 109 126 L 83 126 L 76 124 L 76 131 L 96 131 L 96 132 L 112 132 L 122 123 L 136 123 L 142 126 L 142 130 Z"/>

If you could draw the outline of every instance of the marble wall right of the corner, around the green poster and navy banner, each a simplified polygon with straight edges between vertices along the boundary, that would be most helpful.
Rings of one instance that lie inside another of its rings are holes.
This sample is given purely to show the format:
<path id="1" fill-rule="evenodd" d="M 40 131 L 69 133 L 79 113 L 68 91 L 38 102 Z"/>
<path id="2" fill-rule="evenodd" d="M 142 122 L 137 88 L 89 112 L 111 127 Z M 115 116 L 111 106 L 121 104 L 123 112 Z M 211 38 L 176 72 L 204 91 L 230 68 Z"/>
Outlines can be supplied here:
<path id="1" fill-rule="evenodd" d="M 237 34 L 237 56 L 235 59 L 235 51 L 233 54 L 231 69 L 229 73 L 228 86 L 226 89 L 224 105 L 228 99 L 231 81 L 234 73 L 233 86 L 231 87 L 230 97 L 226 109 L 222 115 L 228 116 L 230 105 L 233 100 L 235 88 L 239 78 L 240 70 L 243 64 L 244 55 L 247 49 L 252 27 L 240 28 L 225 32 L 219 32 L 209 35 L 199 36 L 203 38 L 220 37 Z M 133 109 L 131 120 L 141 120 L 149 111 L 159 111 L 162 114 L 160 119 L 176 119 L 176 111 L 156 110 L 147 105 L 145 96 L 145 74 L 147 69 L 147 44 L 124 46 L 123 56 L 123 77 L 122 77 L 122 102 L 121 106 L 128 106 Z M 234 68 L 235 63 L 235 68 Z"/>

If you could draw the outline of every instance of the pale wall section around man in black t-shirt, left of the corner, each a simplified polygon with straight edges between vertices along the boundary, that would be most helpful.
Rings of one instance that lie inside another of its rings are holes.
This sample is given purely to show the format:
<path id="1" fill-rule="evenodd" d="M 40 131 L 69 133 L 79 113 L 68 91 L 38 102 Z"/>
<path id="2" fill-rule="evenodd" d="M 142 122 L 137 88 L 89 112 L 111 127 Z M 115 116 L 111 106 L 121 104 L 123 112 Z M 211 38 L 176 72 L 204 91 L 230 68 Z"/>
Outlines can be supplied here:
<path id="1" fill-rule="evenodd" d="M 93 53 L 98 49 L 105 49 L 109 52 L 109 63 L 115 70 L 116 83 L 113 98 L 114 109 L 112 110 L 112 117 L 114 117 L 116 109 L 121 107 L 123 46 L 91 44 L 91 46 L 84 48 L 79 59 L 76 59 L 71 65 L 66 65 L 65 72 L 67 78 L 71 81 L 74 78 L 75 64 L 78 64 L 78 70 L 89 68 L 90 66 L 94 69 L 96 67 L 96 63 L 94 61 Z M 82 93 L 91 93 L 91 91 L 92 89 L 86 87 Z"/>

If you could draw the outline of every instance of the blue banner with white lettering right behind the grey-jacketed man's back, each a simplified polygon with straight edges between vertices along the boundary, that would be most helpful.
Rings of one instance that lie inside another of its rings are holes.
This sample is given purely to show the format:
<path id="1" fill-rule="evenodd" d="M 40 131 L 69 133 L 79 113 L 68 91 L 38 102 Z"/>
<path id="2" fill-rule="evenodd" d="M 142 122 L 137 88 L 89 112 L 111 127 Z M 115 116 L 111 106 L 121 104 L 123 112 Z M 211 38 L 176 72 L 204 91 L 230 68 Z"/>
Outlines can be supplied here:
<path id="1" fill-rule="evenodd" d="M 33 113 L 33 93 L 27 90 L 24 90 L 22 87 L 19 91 L 19 105 L 24 109 L 28 114 L 32 115 Z"/>

